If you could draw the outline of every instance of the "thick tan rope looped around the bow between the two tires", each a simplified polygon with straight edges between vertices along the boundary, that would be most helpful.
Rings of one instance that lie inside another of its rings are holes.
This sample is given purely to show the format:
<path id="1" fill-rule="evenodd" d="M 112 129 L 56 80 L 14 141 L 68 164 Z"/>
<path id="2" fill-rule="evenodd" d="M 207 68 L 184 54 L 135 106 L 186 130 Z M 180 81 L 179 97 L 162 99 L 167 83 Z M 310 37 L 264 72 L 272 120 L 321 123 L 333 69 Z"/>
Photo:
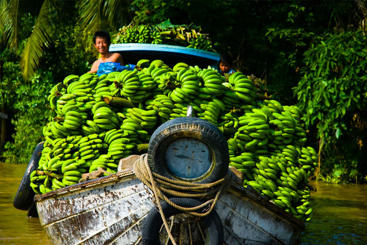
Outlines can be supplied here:
<path id="1" fill-rule="evenodd" d="M 198 184 L 169 179 L 151 171 L 147 154 L 141 155 L 134 163 L 134 173 L 141 182 L 153 191 L 154 202 L 156 206 L 158 206 L 167 233 L 174 245 L 176 245 L 176 242 L 169 230 L 167 219 L 163 213 L 160 201 L 164 200 L 174 208 L 193 216 L 204 217 L 214 209 L 217 201 L 232 183 L 231 171 L 228 171 L 222 179 L 213 183 Z M 199 206 L 188 208 L 174 204 L 166 197 L 165 193 L 180 198 L 210 199 Z M 204 212 L 197 212 L 197 210 L 206 206 L 210 206 L 210 208 L 204 209 Z"/>

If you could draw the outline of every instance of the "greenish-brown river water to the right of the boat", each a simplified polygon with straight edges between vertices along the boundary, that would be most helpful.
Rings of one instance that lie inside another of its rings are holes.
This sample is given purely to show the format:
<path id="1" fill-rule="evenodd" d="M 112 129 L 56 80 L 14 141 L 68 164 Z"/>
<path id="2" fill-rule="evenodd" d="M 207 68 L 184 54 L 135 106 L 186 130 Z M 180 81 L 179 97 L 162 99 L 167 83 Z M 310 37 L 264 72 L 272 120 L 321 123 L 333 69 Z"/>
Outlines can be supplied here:
<path id="1" fill-rule="evenodd" d="M 367 185 L 310 182 L 313 218 L 300 244 L 367 244 Z"/>

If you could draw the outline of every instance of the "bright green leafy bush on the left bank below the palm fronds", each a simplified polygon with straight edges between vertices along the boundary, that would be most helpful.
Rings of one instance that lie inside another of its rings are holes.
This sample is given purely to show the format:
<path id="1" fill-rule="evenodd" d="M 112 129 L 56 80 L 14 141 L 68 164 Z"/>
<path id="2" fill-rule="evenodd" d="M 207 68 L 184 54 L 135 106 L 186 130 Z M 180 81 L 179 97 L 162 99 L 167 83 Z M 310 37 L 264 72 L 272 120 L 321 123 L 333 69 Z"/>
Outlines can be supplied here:
<path id="1" fill-rule="evenodd" d="M 19 67 L 14 65 L 13 70 Z M 14 81 L 15 97 L 12 124 L 15 128 L 13 141 L 5 145 L 4 157 L 8 163 L 28 163 L 37 143 L 43 141 L 42 128 L 50 119 L 51 111 L 47 105 L 47 94 L 52 88 L 52 77 L 49 72 L 34 76 L 30 83 Z M 49 81 L 51 80 L 51 81 Z"/>

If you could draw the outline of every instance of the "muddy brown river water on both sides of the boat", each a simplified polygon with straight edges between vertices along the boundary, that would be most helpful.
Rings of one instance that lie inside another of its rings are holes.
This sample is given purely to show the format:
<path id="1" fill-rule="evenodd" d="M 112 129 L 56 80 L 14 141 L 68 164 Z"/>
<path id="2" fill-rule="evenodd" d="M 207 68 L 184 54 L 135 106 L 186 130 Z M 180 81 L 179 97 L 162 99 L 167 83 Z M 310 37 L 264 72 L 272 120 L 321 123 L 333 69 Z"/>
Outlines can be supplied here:
<path id="1" fill-rule="evenodd" d="M 25 168 L 0 162 L 0 245 L 51 245 L 39 219 L 13 207 Z M 314 215 L 299 244 L 367 244 L 367 185 L 311 184 Z"/>

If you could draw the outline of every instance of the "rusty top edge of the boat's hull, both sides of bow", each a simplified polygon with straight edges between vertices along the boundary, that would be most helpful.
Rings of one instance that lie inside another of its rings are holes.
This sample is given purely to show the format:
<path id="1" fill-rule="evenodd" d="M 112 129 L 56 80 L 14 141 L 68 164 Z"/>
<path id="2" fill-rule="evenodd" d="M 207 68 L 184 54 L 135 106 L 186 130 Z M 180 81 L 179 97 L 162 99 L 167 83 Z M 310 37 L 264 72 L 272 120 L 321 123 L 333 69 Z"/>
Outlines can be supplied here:
<path id="1" fill-rule="evenodd" d="M 41 195 L 35 195 L 34 201 L 40 202 L 42 200 L 45 200 L 50 197 L 55 197 L 61 193 L 67 193 L 67 192 L 74 192 L 79 191 L 82 188 L 91 187 L 93 185 L 99 185 L 101 183 L 106 184 L 108 182 L 115 182 L 117 180 L 122 179 L 123 177 L 130 176 L 132 178 L 136 178 L 134 174 L 133 169 L 128 169 L 122 172 L 118 172 L 113 175 L 100 177 L 98 179 L 94 180 L 88 180 L 82 183 L 78 183 L 75 185 L 66 186 L 57 190 L 53 190 L 50 192 L 47 192 L 45 194 Z M 259 205 L 267 208 L 268 210 L 272 211 L 273 213 L 279 215 L 280 217 L 283 217 L 286 219 L 289 223 L 292 225 L 296 225 L 298 228 L 302 229 L 303 231 L 306 229 L 304 222 L 302 222 L 300 219 L 296 218 L 292 214 L 284 211 L 274 203 L 270 202 L 264 195 L 259 194 L 257 191 L 253 191 L 251 189 L 245 188 L 235 182 L 232 182 L 230 188 L 228 189 L 229 192 L 232 194 L 238 195 L 239 197 L 245 196 L 246 198 L 258 203 Z"/>

